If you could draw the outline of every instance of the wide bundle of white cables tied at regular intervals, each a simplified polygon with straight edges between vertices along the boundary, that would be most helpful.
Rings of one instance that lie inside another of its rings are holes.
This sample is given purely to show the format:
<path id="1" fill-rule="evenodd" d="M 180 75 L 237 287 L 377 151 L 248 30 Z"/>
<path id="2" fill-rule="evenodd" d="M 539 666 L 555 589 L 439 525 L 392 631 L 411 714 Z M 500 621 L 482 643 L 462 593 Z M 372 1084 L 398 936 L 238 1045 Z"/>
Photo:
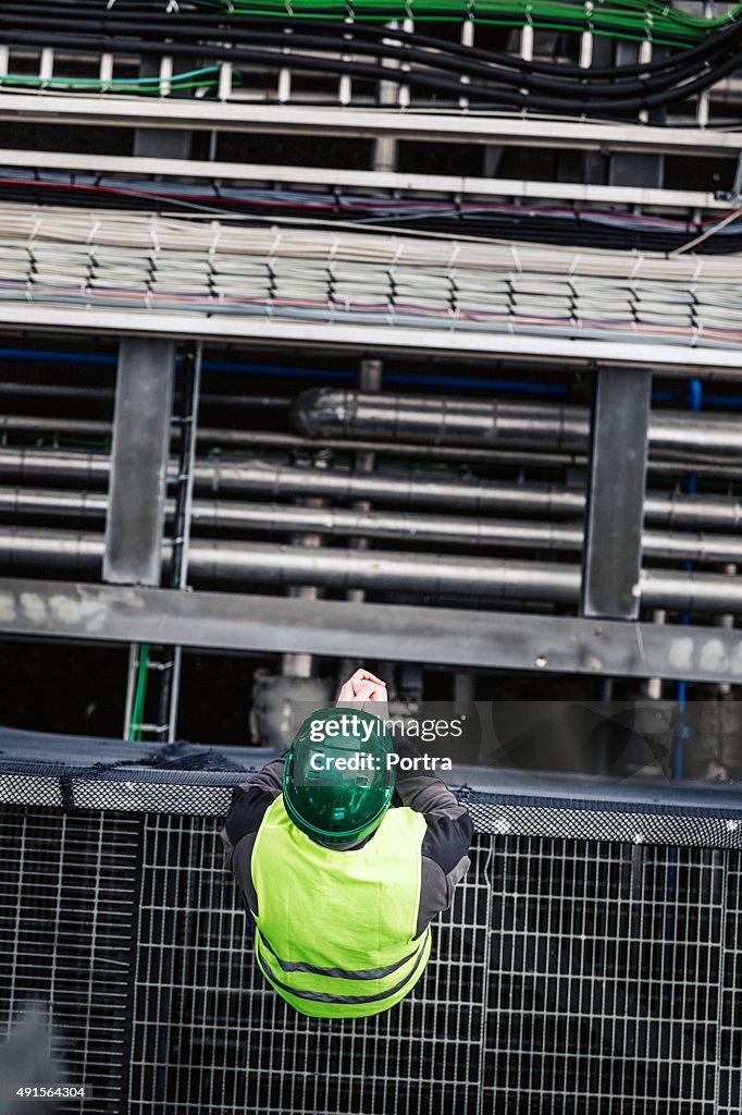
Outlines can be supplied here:
<path id="1" fill-rule="evenodd" d="M 742 346 L 742 258 L 0 207 L 0 299 Z"/>

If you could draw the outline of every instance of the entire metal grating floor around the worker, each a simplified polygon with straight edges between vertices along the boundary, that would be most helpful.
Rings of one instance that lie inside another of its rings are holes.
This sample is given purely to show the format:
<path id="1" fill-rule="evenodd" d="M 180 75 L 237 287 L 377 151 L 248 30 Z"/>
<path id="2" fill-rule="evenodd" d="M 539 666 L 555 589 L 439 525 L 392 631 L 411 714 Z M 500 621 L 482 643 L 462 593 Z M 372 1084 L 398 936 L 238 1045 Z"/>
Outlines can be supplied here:
<path id="1" fill-rule="evenodd" d="M 412 996 L 340 1021 L 266 989 L 219 827 L 7 807 L 0 979 L 94 1085 L 64 1109 L 739 1112 L 739 851 L 479 834 Z"/>

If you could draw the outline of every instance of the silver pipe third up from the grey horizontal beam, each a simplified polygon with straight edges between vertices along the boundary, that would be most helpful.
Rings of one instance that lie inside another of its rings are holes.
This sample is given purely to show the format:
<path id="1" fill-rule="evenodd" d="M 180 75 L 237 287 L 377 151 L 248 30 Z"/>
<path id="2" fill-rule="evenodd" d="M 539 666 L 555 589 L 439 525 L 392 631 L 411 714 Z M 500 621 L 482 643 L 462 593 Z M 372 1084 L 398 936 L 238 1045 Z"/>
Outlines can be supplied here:
<path id="1" fill-rule="evenodd" d="M 175 475 L 175 459 L 170 476 Z M 77 484 L 85 488 L 108 485 L 109 460 L 102 453 L 0 448 L 0 481 L 45 486 Z M 228 496 L 267 495 L 273 498 L 314 495 L 340 503 L 369 500 L 398 507 L 446 507 L 481 514 L 577 516 L 585 508 L 582 487 L 556 484 L 508 483 L 428 478 L 404 473 L 354 475 L 340 468 L 304 469 L 260 458 L 233 463 L 199 460 L 194 471 L 196 489 Z M 742 531 L 742 500 L 735 496 L 664 494 L 650 492 L 644 501 L 645 522 L 665 527 Z"/>

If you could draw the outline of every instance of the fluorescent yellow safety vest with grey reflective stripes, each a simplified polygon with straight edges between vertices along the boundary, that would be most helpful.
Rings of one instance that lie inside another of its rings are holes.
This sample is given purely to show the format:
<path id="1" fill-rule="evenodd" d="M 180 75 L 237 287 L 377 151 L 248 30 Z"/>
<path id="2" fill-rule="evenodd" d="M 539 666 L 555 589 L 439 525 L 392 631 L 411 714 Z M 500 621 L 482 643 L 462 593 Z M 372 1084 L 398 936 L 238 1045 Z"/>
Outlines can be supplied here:
<path id="1" fill-rule="evenodd" d="M 430 956 L 430 928 L 414 937 L 426 831 L 422 814 L 392 808 L 362 847 L 339 852 L 296 828 L 281 796 L 266 811 L 252 855 L 255 956 L 301 1014 L 378 1014 L 418 981 Z"/>

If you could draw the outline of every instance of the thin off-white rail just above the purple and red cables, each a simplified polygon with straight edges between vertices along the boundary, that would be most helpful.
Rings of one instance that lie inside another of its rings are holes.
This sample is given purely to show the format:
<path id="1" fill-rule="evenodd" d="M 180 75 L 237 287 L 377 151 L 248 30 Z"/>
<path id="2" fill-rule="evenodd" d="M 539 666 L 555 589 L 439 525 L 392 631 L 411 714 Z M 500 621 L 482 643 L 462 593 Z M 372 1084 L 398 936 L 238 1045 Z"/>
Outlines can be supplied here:
<path id="1" fill-rule="evenodd" d="M 331 155 L 331 151 L 328 152 Z M 346 190 L 404 190 L 481 197 L 562 200 L 569 204 L 596 203 L 658 206 L 662 209 L 729 210 L 729 202 L 701 190 L 657 190 L 650 186 L 606 186 L 582 182 L 535 182 L 524 178 L 476 178 L 453 174 L 404 174 L 350 171 L 343 167 L 277 166 L 254 163 L 205 163 L 191 158 L 136 158 L 98 152 L 9 151 L 4 166 L 35 169 L 98 171 L 138 177 L 206 178 L 241 183 L 342 187 Z M 166 203 L 165 203 L 166 204 Z"/>

